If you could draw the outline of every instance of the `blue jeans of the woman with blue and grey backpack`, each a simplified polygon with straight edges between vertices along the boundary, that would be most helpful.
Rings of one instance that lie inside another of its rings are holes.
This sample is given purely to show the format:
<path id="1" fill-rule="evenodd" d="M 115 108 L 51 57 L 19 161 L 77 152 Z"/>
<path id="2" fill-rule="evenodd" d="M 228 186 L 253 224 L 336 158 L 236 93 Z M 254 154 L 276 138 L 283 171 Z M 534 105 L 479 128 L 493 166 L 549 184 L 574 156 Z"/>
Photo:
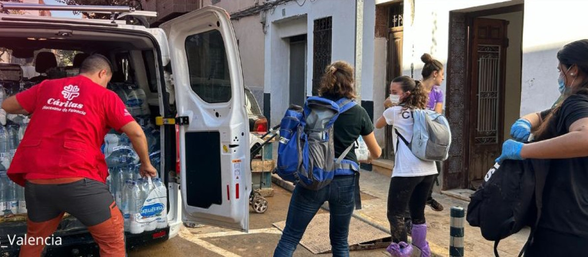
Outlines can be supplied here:
<path id="1" fill-rule="evenodd" d="M 319 191 L 296 185 L 290 198 L 286 227 L 273 256 L 292 256 L 306 226 L 325 201 L 329 201 L 329 238 L 333 256 L 349 256 L 347 238 L 351 214 L 355 209 L 354 193 L 354 175 L 336 176 L 329 185 Z"/>

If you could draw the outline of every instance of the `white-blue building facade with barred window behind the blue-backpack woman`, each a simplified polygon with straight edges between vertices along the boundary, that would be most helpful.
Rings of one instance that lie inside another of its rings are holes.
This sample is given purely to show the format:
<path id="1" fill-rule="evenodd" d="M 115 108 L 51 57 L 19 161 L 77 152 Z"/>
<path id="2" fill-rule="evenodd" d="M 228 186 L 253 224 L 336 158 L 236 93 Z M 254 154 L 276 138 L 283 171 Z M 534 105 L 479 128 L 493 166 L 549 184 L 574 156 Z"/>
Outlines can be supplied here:
<path id="1" fill-rule="evenodd" d="M 360 5 L 355 0 L 299 0 L 278 5 L 263 14 L 264 99 L 266 104 L 270 99 L 271 124 L 279 123 L 289 104 L 301 105 L 306 97 L 316 94 L 325 67 L 336 60 L 355 66 L 356 77 L 364 77 L 357 85 L 360 102 L 373 114 L 370 80 L 375 51 L 373 44 L 358 49 L 356 35 L 360 35 L 359 42 L 373 42 L 374 6 L 373 0 L 360 1 Z M 363 12 L 359 30 L 356 9 Z"/>

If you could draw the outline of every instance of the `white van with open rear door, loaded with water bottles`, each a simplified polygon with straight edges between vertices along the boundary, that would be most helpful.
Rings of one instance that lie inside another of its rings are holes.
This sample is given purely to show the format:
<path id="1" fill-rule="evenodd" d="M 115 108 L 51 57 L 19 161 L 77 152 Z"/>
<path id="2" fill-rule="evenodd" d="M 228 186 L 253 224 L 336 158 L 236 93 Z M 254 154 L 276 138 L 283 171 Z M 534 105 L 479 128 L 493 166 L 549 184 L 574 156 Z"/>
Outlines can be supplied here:
<path id="1" fill-rule="evenodd" d="M 0 5 L 2 13 L 51 9 L 111 12 L 127 19 L 153 16 L 123 6 Z M 126 233 L 128 249 L 172 238 L 182 222 L 248 231 L 249 122 L 239 51 L 228 13 L 208 6 L 165 22 L 161 28 L 127 23 L 1 14 L 0 48 L 8 49 L 15 60 L 30 59 L 37 52 L 101 53 L 113 63 L 113 82 L 130 80 L 146 92 L 151 120 L 161 124 L 159 175 L 168 188 L 169 226 L 143 234 Z M 173 86 L 164 78 L 163 68 L 169 62 Z M 73 66 L 53 68 L 75 70 Z M 0 84 L 2 77 L 11 77 L 8 70 L 2 72 Z M 22 76 L 21 80 L 19 83 L 30 83 Z M 174 123 L 179 125 L 177 171 Z M 25 232 L 25 222 L 0 223 L 0 246 L 7 246 L 0 248 L 0 255 L 17 254 L 18 245 L 9 245 L 7 236 Z M 75 219 L 64 219 L 54 236 L 62 238 L 62 245 L 48 246 L 48 256 L 96 252 L 92 238 Z"/>

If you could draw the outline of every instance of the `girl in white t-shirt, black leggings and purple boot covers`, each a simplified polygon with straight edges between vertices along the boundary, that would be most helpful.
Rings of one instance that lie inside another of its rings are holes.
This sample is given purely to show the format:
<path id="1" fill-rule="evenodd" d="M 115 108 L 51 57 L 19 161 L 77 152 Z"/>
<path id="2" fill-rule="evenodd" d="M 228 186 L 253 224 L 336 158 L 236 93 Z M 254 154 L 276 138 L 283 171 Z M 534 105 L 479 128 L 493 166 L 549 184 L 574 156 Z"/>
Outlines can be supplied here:
<path id="1" fill-rule="evenodd" d="M 397 98 L 397 104 L 386 109 L 376 122 L 376 128 L 382 129 L 386 124 L 392 125 L 395 133 L 410 142 L 413 133 L 413 109 L 425 109 L 428 96 L 419 81 L 408 76 L 396 77 L 390 83 L 390 98 Z M 392 244 L 387 251 L 393 257 L 410 256 L 412 246 L 422 252 L 423 257 L 430 256 L 429 243 L 426 241 L 427 225 L 425 223 L 425 203 L 427 194 L 437 168 L 433 161 L 423 161 L 415 157 L 406 144 L 397 138 L 396 155 L 390 188 L 388 191 L 388 221 L 392 231 Z M 406 207 L 412 218 L 412 245 L 407 244 L 407 231 L 404 222 Z"/>

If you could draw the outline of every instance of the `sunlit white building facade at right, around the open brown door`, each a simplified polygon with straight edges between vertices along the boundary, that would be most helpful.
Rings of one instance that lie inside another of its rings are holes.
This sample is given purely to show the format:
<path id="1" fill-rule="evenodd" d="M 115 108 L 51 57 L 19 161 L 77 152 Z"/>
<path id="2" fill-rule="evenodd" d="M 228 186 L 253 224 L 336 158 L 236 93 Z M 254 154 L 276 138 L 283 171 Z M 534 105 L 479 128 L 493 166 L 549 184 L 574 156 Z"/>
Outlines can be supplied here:
<path id="1" fill-rule="evenodd" d="M 581 1 L 376 0 L 375 4 L 376 11 L 402 6 L 402 75 L 422 79 L 423 53 L 445 66 L 442 89 L 454 141 L 443 165 L 443 189 L 479 185 L 509 138 L 512 123 L 521 115 L 548 109 L 559 97 L 557 50 L 587 38 L 574 25 L 582 23 L 583 10 L 588 8 Z M 397 61 L 390 59 L 392 40 L 390 35 L 375 40 L 375 51 L 387 58 L 376 58 L 373 65 L 386 67 L 386 73 L 392 70 L 390 61 Z M 378 85 L 385 79 L 374 76 Z M 376 113 L 381 113 L 384 98 L 374 99 Z M 379 141 L 386 141 L 384 137 L 380 134 Z"/>

